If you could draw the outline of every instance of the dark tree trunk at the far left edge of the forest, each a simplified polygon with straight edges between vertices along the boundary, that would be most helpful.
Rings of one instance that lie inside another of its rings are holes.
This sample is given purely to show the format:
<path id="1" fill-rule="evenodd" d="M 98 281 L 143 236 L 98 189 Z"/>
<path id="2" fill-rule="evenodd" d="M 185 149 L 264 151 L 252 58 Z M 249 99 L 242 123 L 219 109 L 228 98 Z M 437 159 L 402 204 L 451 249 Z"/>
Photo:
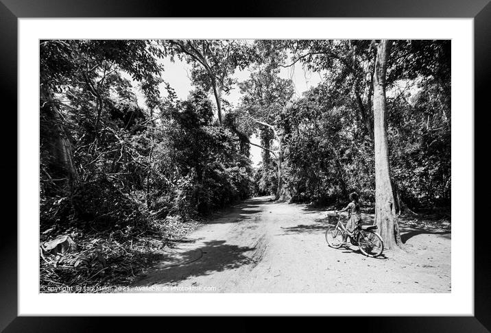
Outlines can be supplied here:
<path id="1" fill-rule="evenodd" d="M 77 173 L 73 166 L 71 143 L 64 130 L 62 115 L 49 88 L 42 85 L 40 95 L 40 112 L 49 126 L 46 132 L 41 133 L 51 157 L 49 171 L 53 177 L 66 178 L 67 184 L 72 186 Z"/>

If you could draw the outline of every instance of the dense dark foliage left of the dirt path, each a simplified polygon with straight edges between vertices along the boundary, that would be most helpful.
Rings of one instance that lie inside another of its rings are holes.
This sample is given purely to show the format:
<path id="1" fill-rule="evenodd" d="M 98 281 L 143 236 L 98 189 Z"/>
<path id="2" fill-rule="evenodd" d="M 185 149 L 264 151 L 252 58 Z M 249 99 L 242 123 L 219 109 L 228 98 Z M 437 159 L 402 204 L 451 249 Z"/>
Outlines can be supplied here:
<path id="1" fill-rule="evenodd" d="M 248 149 L 214 123 L 208 97 L 196 90 L 180 101 L 169 86 L 160 97 L 156 44 L 50 40 L 40 49 L 42 225 L 138 226 L 250 196 Z"/>

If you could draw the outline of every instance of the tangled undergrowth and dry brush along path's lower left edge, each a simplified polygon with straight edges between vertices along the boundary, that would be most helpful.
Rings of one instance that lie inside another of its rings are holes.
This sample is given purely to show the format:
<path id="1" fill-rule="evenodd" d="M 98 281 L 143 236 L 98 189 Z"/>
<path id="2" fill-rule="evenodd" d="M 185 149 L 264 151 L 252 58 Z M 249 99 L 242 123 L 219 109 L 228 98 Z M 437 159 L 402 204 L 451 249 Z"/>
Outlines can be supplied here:
<path id="1" fill-rule="evenodd" d="M 159 260 L 159 251 L 173 247 L 197 223 L 168 217 L 152 221 L 147 230 L 84 232 L 77 227 L 51 227 L 40 234 L 41 245 L 63 234 L 71 237 L 76 249 L 65 254 L 40 249 L 40 292 L 97 293 L 112 291 L 110 286 L 128 286 L 137 273 Z"/>

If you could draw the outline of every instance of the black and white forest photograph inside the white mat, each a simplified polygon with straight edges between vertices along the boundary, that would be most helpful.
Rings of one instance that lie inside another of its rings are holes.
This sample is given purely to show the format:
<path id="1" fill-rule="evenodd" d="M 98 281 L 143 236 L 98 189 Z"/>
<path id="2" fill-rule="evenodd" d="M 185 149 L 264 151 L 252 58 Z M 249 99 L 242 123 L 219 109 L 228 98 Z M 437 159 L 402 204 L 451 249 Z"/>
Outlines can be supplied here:
<path id="1" fill-rule="evenodd" d="M 39 40 L 39 293 L 451 293 L 451 47 Z"/>

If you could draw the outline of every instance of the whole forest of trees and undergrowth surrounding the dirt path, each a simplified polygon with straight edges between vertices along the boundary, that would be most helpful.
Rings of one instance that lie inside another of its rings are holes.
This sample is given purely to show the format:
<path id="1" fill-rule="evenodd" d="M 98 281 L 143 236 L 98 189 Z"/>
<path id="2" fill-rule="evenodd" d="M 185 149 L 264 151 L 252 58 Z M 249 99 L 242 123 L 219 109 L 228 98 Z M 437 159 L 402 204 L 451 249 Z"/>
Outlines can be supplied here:
<path id="1" fill-rule="evenodd" d="M 301 95 L 298 64 L 320 77 Z M 40 40 L 39 117 L 45 285 L 125 282 L 251 197 L 355 191 L 387 249 L 400 217 L 450 215 L 451 40 Z"/>

